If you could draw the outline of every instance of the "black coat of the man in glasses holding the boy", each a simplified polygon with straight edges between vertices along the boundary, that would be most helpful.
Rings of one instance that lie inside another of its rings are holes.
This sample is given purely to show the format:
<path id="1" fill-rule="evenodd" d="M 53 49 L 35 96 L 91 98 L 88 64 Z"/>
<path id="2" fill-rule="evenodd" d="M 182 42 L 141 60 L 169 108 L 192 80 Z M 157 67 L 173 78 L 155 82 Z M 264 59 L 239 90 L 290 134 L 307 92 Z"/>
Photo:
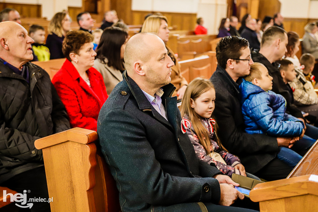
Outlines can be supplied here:
<path id="1" fill-rule="evenodd" d="M 218 65 L 210 79 L 215 87 L 215 110 L 218 136 L 224 147 L 237 155 L 249 173 L 255 173 L 276 157 L 277 139 L 264 134 L 250 135 L 240 104 L 239 85 Z"/>

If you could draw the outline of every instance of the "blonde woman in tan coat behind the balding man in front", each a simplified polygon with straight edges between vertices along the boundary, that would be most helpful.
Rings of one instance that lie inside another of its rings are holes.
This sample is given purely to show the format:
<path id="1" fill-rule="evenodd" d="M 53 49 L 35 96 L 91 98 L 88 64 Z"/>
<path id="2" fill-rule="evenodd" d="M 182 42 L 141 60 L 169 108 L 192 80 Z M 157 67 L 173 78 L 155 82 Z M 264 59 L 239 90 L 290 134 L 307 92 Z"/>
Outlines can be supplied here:
<path id="1" fill-rule="evenodd" d="M 187 88 L 188 82 L 181 75 L 181 66 L 172 52 L 172 50 L 167 46 L 169 40 L 169 29 L 168 29 L 168 20 L 165 16 L 149 16 L 142 24 L 141 32 L 155 32 L 158 37 L 163 40 L 166 44 L 168 50 L 168 55 L 171 57 L 172 61 L 175 63 L 171 67 L 171 83 L 176 87 L 176 90 L 173 92 L 172 96 L 177 96 L 178 99 L 182 99 L 185 89 Z"/>

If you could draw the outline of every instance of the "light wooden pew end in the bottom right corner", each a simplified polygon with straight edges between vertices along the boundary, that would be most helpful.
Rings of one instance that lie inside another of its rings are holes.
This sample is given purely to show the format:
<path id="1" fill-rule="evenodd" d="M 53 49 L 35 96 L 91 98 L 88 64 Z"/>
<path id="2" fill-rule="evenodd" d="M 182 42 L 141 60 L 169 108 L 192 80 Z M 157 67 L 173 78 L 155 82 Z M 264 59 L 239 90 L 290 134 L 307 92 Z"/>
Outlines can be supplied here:
<path id="1" fill-rule="evenodd" d="M 259 183 L 250 192 L 260 211 L 318 211 L 318 176 L 304 175 Z"/>

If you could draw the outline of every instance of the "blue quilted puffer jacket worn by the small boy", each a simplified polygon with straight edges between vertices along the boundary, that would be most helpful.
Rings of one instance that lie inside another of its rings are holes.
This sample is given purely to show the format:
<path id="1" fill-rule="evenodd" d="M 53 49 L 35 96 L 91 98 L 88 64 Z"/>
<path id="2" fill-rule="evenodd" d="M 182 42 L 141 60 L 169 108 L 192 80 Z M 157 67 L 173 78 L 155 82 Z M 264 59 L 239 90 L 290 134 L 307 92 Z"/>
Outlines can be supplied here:
<path id="1" fill-rule="evenodd" d="M 286 100 L 273 91 L 245 81 L 239 86 L 245 131 L 249 134 L 272 136 L 300 136 L 304 128 L 301 120 L 288 115 Z"/>

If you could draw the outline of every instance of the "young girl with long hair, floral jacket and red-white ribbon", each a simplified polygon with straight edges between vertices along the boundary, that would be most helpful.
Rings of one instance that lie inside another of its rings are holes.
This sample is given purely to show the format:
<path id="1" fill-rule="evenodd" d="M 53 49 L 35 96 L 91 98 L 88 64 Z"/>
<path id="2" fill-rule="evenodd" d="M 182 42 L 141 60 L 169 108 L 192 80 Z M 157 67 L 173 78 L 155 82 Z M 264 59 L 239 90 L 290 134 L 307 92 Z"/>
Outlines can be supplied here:
<path id="1" fill-rule="evenodd" d="M 191 124 L 190 127 L 185 124 L 189 127 L 186 133 L 198 159 L 208 164 L 214 163 L 221 172 L 230 177 L 233 173 L 246 176 L 240 159 L 227 152 L 218 139 L 218 125 L 212 116 L 214 101 L 215 90 L 211 81 L 196 78 L 189 83 L 180 108 L 185 122 L 189 121 Z M 247 176 L 258 179 L 249 173 Z"/>

